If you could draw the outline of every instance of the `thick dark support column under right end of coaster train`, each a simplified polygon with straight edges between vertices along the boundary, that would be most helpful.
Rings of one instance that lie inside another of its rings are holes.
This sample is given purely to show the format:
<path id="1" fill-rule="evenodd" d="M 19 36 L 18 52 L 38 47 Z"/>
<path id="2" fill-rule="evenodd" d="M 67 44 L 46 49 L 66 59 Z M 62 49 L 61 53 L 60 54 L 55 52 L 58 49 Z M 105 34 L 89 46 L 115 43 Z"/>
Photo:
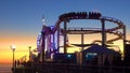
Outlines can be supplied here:
<path id="1" fill-rule="evenodd" d="M 104 18 L 101 19 L 101 24 L 102 24 L 102 46 L 105 46 L 106 33 L 105 33 L 105 19 Z"/>

